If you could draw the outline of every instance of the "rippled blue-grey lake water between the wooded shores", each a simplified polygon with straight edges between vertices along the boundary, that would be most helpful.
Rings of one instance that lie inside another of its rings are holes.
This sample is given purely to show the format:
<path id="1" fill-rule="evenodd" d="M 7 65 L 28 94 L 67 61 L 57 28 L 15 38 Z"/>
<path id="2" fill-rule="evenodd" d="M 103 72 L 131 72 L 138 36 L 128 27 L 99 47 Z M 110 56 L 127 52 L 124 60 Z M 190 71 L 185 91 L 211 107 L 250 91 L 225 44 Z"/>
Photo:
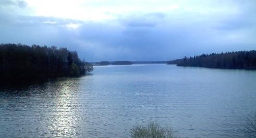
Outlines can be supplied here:
<path id="1" fill-rule="evenodd" d="M 181 137 L 242 137 L 255 113 L 248 70 L 96 66 L 91 76 L 0 89 L 0 137 L 129 137 L 150 121 Z"/>

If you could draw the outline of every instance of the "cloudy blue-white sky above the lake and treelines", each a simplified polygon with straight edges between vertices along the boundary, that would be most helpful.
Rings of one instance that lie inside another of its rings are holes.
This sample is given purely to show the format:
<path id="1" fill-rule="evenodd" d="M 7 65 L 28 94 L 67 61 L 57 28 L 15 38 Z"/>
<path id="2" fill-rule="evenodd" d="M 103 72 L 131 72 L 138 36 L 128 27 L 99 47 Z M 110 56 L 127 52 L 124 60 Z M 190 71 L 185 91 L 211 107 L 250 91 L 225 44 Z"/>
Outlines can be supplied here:
<path id="1" fill-rule="evenodd" d="M 170 60 L 256 49 L 256 1 L 0 0 L 0 43 L 81 59 Z"/>

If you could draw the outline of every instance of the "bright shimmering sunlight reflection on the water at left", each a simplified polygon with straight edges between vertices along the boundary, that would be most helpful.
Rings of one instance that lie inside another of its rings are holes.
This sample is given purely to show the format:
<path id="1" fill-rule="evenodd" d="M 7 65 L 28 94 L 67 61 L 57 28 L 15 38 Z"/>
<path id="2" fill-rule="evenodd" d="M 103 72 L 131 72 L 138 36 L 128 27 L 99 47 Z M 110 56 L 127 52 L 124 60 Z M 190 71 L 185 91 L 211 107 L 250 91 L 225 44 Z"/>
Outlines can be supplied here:
<path id="1" fill-rule="evenodd" d="M 78 124 L 81 117 L 78 115 L 78 106 L 75 100 L 76 90 L 79 89 L 77 80 L 59 82 L 58 93 L 54 98 L 54 111 L 49 118 L 48 131 L 54 132 L 56 137 L 79 136 Z"/>

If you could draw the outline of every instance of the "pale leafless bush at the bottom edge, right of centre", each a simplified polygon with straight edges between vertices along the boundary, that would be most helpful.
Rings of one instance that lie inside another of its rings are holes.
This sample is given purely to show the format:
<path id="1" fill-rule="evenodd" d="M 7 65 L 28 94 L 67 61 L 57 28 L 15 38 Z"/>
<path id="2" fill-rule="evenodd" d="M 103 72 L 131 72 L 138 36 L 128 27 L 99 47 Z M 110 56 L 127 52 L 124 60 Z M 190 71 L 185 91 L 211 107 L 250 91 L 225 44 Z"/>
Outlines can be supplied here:
<path id="1" fill-rule="evenodd" d="M 156 122 L 150 122 L 148 126 L 134 126 L 131 131 L 132 138 L 175 138 L 173 128 L 160 127 Z"/>

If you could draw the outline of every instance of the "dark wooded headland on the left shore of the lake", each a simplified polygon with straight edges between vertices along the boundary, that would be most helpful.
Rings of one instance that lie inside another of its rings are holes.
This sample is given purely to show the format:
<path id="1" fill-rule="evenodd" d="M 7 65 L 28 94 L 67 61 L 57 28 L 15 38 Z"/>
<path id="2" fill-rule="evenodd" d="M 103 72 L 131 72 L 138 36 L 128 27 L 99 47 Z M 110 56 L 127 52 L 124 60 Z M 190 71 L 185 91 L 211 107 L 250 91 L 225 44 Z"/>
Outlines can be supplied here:
<path id="1" fill-rule="evenodd" d="M 2 79 L 79 76 L 93 70 L 81 61 L 77 52 L 55 46 L 1 44 L 0 74 Z"/>

